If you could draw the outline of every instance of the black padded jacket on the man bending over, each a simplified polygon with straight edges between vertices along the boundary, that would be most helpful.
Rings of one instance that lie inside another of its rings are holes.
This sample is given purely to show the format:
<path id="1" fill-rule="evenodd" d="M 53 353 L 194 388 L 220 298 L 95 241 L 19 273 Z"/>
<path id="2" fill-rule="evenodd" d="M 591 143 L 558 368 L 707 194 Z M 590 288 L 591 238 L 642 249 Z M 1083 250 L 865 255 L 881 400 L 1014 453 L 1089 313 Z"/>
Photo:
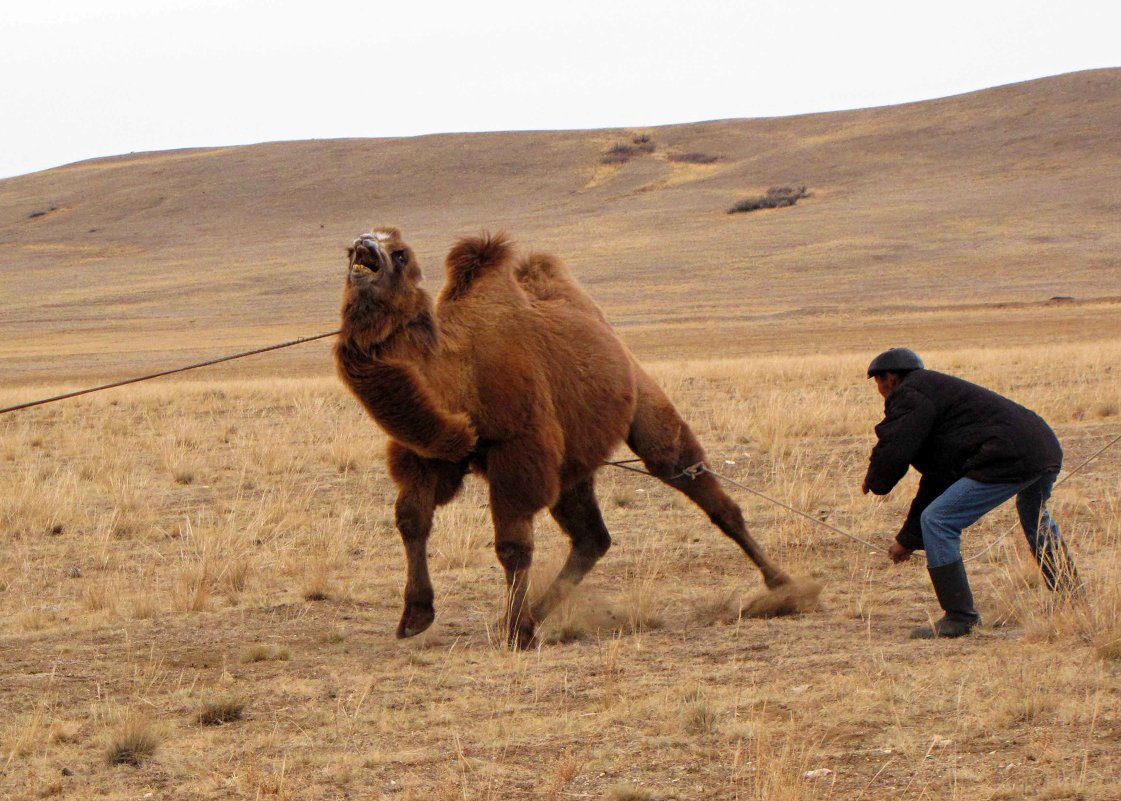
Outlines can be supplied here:
<path id="1" fill-rule="evenodd" d="M 896 537 L 923 548 L 919 515 L 958 478 L 1015 484 L 1063 466 L 1063 448 L 1041 417 L 1019 403 L 953 375 L 916 370 L 883 403 L 864 481 L 887 495 L 912 466 L 923 474 Z"/>

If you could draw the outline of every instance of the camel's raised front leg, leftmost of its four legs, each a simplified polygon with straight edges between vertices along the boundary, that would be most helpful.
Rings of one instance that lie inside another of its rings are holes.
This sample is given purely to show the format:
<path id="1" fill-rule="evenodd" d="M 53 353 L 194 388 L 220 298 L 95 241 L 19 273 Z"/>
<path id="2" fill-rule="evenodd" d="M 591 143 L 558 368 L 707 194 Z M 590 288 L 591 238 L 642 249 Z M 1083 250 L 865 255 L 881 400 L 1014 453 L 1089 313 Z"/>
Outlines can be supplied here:
<path id="1" fill-rule="evenodd" d="M 391 443 L 389 471 L 398 486 L 395 513 L 405 544 L 405 611 L 397 636 L 410 637 L 436 618 L 435 593 L 428 575 L 428 535 L 436 506 L 455 497 L 463 485 L 463 464 L 427 459 Z"/>

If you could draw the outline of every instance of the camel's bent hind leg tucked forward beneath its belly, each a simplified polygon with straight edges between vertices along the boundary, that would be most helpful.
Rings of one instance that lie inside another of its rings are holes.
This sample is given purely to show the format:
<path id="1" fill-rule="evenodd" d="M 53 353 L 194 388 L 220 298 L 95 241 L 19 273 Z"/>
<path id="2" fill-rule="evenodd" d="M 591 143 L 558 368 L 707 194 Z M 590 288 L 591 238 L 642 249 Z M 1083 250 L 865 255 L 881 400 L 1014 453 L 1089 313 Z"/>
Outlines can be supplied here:
<path id="1" fill-rule="evenodd" d="M 572 549 L 553 584 L 532 605 L 532 616 L 544 621 L 557 604 L 565 599 L 573 587 L 595 566 L 611 547 L 611 534 L 600 514 L 592 476 L 567 487 L 549 510 L 553 519 L 568 534 Z"/>

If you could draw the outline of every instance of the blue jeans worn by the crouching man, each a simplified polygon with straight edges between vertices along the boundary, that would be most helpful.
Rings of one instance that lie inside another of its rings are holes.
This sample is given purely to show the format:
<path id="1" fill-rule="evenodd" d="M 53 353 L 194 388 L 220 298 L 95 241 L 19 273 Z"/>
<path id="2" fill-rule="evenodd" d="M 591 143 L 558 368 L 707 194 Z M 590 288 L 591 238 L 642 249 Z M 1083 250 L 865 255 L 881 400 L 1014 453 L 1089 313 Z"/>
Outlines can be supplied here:
<path id="1" fill-rule="evenodd" d="M 1032 553 L 1060 548 L 1063 535 L 1058 523 L 1047 511 L 1047 499 L 1057 474 L 1046 473 L 1018 484 L 984 484 L 960 478 L 923 510 L 923 549 L 927 567 L 952 565 L 962 558 L 962 529 L 1016 495 L 1016 511 Z M 1043 531 L 1040 531 L 1040 521 Z"/>

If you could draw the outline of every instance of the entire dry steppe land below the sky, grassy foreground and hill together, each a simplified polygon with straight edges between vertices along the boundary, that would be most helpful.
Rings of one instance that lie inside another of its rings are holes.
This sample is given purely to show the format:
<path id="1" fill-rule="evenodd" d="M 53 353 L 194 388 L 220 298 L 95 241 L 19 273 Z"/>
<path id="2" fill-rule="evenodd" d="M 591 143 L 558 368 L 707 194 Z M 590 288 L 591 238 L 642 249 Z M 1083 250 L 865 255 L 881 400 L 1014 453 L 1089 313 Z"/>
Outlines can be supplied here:
<path id="1" fill-rule="evenodd" d="M 734 81 L 730 82 L 734 91 Z M 437 516 L 437 620 L 393 639 L 385 441 L 328 341 L 0 416 L 0 799 L 1121 798 L 1121 69 L 652 130 L 275 142 L 0 180 L 0 407 L 330 332 L 345 245 L 399 224 L 564 258 L 821 608 L 684 499 L 600 473 L 614 546 L 513 653 L 483 487 Z M 633 158 L 605 164 L 619 146 Z M 794 207 L 725 214 L 771 186 Z M 966 532 L 985 623 L 891 566 L 860 494 L 869 358 L 1044 415 L 1085 597 L 1009 507 Z M 620 451 L 620 457 L 626 457 Z M 1067 478 L 1069 475 L 1069 478 Z M 773 505 L 781 500 L 868 547 Z M 535 583 L 565 542 L 538 522 Z M 119 764 L 118 764 L 119 763 Z"/>

